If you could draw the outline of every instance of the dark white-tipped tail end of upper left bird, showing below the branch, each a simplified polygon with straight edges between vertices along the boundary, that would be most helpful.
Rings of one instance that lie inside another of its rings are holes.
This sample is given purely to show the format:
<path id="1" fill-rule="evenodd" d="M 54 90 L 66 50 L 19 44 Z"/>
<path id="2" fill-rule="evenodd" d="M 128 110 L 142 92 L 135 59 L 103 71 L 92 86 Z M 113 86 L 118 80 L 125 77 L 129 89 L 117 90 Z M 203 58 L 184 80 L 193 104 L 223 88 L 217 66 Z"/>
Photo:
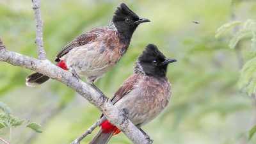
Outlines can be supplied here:
<path id="1" fill-rule="evenodd" d="M 38 84 L 42 84 L 45 81 L 47 81 L 49 79 L 49 77 L 44 76 L 43 74 L 40 74 L 38 72 L 29 75 L 28 77 L 26 77 L 26 84 L 27 86 L 36 86 Z"/>

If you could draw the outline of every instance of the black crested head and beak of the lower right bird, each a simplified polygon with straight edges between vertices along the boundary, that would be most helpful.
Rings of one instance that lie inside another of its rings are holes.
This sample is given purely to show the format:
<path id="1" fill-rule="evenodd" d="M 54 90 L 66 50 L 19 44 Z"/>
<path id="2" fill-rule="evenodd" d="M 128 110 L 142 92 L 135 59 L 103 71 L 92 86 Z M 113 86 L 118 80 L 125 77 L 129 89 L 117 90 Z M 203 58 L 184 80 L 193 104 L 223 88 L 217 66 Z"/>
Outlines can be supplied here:
<path id="1" fill-rule="evenodd" d="M 148 44 L 135 64 L 134 73 L 165 77 L 168 63 L 175 61 L 177 60 L 166 58 L 164 54 L 157 49 L 156 45 Z"/>

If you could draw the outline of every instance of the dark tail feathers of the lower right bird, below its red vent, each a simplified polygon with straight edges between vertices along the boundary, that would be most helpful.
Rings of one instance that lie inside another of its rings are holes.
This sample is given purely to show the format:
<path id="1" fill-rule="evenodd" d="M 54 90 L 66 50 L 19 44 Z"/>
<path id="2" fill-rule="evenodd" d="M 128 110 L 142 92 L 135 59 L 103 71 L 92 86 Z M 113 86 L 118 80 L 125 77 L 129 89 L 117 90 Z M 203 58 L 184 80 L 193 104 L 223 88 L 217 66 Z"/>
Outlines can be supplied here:
<path id="1" fill-rule="evenodd" d="M 113 136 L 113 132 L 104 133 L 102 129 L 93 137 L 89 144 L 106 144 Z"/>

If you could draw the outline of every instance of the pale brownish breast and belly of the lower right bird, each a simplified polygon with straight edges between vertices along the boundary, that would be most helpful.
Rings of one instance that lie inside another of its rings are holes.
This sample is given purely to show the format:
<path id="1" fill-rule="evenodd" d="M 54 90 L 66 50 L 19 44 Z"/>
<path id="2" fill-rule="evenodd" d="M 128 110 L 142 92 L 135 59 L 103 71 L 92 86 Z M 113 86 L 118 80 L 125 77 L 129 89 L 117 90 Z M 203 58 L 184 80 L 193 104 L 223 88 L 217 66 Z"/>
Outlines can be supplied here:
<path id="1" fill-rule="evenodd" d="M 134 89 L 116 102 L 118 109 L 125 109 L 135 125 L 144 125 L 166 108 L 170 99 L 167 79 L 143 77 Z"/>

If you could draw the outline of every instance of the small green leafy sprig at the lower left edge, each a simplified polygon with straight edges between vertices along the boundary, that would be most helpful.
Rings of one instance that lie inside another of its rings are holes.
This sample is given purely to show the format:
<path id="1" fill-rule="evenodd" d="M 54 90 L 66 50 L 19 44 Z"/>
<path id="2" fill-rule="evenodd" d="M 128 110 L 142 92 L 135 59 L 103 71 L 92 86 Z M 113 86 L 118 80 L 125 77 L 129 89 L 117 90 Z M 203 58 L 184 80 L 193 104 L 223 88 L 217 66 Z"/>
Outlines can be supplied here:
<path id="1" fill-rule="evenodd" d="M 16 116 L 13 116 L 12 110 L 3 102 L 0 102 L 0 109 L 3 111 L 3 113 L 0 113 L 0 129 L 3 129 L 4 127 L 19 127 L 24 124 L 35 132 L 42 133 L 42 130 L 40 129 L 42 126 L 40 124 L 35 122 L 29 123 L 29 120 L 19 119 Z"/>

